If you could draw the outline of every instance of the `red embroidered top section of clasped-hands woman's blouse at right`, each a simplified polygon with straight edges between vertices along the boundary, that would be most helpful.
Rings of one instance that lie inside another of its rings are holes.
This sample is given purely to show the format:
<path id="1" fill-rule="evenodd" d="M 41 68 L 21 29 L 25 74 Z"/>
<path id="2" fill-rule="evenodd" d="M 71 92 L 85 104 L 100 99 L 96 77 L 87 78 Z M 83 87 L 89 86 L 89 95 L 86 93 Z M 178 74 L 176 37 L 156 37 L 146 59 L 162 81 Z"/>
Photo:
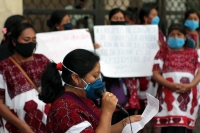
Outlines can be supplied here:
<path id="1" fill-rule="evenodd" d="M 166 51 L 168 49 L 161 49 L 155 56 L 155 60 L 163 60 L 163 73 L 167 72 L 189 72 L 194 75 L 198 62 L 198 54 L 194 49 L 185 48 L 184 51 Z M 166 55 L 164 55 L 164 53 Z M 158 64 L 154 64 L 153 70 L 158 70 Z M 161 69 L 161 68 L 160 68 Z"/>

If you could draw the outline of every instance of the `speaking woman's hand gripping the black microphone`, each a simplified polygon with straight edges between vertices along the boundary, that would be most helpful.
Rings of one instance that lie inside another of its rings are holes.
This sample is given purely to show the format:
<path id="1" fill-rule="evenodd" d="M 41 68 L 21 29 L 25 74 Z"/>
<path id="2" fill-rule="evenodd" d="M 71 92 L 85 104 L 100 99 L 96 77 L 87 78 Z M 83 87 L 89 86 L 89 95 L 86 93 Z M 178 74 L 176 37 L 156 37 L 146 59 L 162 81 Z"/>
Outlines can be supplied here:
<path id="1" fill-rule="evenodd" d="M 118 99 L 115 95 L 110 92 L 105 92 L 102 97 L 102 113 L 113 114 L 116 108 Z"/>

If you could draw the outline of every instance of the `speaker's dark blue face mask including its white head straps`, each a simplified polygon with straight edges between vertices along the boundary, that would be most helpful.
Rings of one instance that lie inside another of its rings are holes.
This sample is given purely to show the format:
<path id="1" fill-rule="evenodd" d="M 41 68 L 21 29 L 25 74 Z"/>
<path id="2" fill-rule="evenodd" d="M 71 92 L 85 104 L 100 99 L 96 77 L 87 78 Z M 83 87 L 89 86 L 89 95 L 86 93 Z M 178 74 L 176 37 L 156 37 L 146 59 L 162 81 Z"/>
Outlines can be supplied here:
<path id="1" fill-rule="evenodd" d="M 69 68 L 67 68 L 64 64 L 63 64 L 64 68 L 66 68 L 67 70 L 69 70 L 70 72 L 72 73 L 75 73 L 74 71 L 70 70 Z M 77 73 L 75 73 L 77 74 Z M 78 74 L 77 74 L 78 75 Z M 82 79 L 82 78 L 81 78 Z M 73 86 L 73 85 L 70 85 L 70 84 L 67 84 L 65 83 L 66 85 L 68 86 L 71 86 L 73 88 L 77 88 L 77 89 L 84 89 L 85 92 L 86 92 L 86 97 L 88 99 L 91 99 L 91 100 L 96 100 L 96 99 L 99 99 L 99 97 L 95 94 L 95 91 L 97 89 L 101 89 L 102 91 L 104 91 L 104 84 L 101 80 L 101 78 L 98 78 L 97 80 L 95 80 L 94 82 L 92 83 L 87 83 L 84 79 L 82 79 L 82 81 L 86 84 L 84 88 L 80 88 L 80 87 L 77 87 L 77 86 Z"/>

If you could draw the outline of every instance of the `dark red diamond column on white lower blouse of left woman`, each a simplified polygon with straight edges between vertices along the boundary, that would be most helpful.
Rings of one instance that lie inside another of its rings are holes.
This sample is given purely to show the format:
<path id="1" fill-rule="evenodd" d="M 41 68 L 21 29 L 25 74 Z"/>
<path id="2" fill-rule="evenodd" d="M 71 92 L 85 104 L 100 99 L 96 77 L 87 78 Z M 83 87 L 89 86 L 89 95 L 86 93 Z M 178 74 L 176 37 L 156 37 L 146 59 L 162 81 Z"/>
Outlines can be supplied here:
<path id="1" fill-rule="evenodd" d="M 34 132 L 44 133 L 45 124 L 42 122 L 43 113 L 37 109 L 37 103 L 33 100 L 28 101 L 24 105 L 25 122 L 33 129 Z"/>

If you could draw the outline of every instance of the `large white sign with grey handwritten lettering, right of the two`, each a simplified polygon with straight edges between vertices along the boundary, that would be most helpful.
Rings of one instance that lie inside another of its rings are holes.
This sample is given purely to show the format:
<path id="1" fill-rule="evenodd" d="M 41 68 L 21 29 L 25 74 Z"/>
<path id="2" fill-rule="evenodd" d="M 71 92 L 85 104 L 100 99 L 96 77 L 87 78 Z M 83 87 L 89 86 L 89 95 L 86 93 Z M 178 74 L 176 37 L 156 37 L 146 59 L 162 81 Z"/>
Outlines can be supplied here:
<path id="1" fill-rule="evenodd" d="M 95 26 L 101 71 L 106 77 L 151 76 L 159 49 L 158 26 Z"/>

